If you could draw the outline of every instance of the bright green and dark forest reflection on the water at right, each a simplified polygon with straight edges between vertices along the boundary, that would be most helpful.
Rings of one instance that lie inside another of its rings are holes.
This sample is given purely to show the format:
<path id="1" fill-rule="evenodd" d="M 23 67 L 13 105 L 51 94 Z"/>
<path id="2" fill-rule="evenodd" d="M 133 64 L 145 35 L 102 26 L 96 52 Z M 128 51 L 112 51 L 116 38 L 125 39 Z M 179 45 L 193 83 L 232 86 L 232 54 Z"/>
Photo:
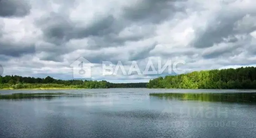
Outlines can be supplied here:
<path id="1" fill-rule="evenodd" d="M 256 103 L 256 93 L 150 93 L 173 100 Z"/>

